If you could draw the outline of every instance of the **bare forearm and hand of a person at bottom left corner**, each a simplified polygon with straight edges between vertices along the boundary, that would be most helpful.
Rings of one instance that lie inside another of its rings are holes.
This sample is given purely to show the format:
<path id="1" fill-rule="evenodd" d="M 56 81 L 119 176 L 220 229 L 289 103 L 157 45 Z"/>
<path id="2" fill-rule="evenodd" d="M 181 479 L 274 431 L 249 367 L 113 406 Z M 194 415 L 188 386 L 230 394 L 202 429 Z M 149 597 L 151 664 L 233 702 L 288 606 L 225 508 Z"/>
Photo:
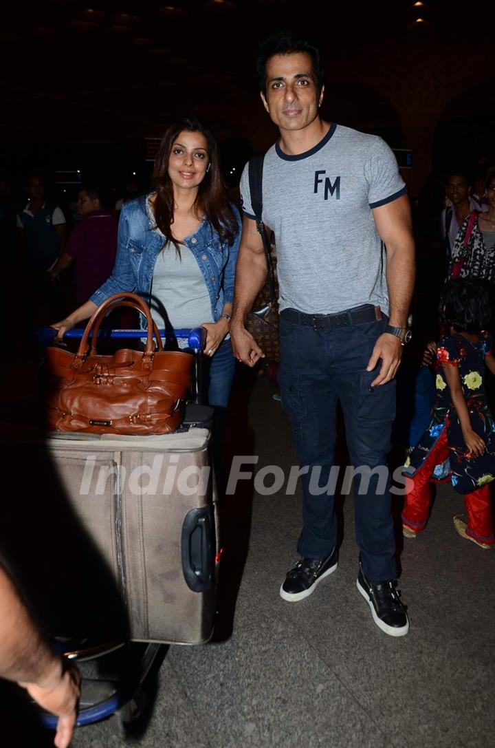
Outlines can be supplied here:
<path id="1" fill-rule="evenodd" d="M 55 746 L 67 748 L 76 724 L 79 671 L 49 648 L 1 566 L 0 678 L 17 681 L 31 699 L 58 716 Z"/>

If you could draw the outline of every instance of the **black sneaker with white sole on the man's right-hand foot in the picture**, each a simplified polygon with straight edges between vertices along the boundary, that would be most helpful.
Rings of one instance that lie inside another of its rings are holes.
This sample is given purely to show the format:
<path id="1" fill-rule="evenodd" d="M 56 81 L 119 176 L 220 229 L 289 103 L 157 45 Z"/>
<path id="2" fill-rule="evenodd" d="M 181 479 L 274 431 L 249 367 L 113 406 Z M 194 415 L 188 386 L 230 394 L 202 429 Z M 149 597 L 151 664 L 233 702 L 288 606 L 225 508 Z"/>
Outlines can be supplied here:
<path id="1" fill-rule="evenodd" d="M 357 589 L 368 602 L 375 624 L 391 637 L 405 637 L 409 631 L 408 614 L 396 586 L 396 580 L 370 582 L 359 565 Z"/>

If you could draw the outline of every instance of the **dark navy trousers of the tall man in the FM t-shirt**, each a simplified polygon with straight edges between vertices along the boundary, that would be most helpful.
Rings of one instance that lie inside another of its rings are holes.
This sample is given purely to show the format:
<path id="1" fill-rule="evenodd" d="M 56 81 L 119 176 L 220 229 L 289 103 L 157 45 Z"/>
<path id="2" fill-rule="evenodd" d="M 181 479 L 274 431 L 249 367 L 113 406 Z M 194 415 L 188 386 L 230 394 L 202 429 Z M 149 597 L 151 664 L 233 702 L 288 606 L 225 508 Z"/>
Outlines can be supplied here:
<path id="1" fill-rule="evenodd" d="M 315 484 L 326 486 L 330 478 L 339 400 L 351 465 L 365 469 L 380 466 L 382 478 L 386 476 L 385 486 L 379 485 L 377 473 L 371 475 L 367 487 L 364 481 L 353 482 L 356 542 L 363 571 L 375 582 L 396 578 L 386 459 L 396 414 L 396 382 L 372 389 L 379 366 L 366 371 L 373 346 L 386 325 L 384 317 L 376 322 L 317 332 L 280 318 L 282 406 L 289 415 L 300 466 L 309 468 L 301 476 L 304 526 L 298 553 L 322 558 L 337 543 L 335 488 L 330 482 L 322 493 Z M 312 468 L 321 468 L 317 481 L 314 473 L 311 479 Z"/>

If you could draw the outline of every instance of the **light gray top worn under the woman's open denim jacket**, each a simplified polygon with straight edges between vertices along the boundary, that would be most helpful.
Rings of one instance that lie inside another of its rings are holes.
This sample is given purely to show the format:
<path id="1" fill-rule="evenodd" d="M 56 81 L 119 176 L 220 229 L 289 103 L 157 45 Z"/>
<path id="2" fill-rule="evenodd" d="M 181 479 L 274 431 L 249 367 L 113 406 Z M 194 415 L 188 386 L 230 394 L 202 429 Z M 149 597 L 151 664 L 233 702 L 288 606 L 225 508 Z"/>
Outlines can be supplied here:
<path id="1" fill-rule="evenodd" d="M 170 242 L 156 258 L 153 272 L 151 313 L 160 329 L 165 313 L 173 328 L 194 328 L 213 322 L 209 292 L 197 260 L 185 244 L 179 245 L 180 257 Z"/>

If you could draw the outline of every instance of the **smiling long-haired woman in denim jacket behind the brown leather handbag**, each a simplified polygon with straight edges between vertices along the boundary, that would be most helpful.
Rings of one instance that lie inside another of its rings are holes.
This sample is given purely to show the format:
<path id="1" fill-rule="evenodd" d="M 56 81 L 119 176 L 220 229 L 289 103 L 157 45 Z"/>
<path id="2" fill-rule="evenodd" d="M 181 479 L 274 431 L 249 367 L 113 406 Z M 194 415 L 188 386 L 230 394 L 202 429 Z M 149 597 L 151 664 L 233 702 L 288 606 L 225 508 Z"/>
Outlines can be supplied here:
<path id="1" fill-rule="evenodd" d="M 123 205 L 108 281 L 52 327 L 60 338 L 112 294 L 140 293 L 159 328 L 206 329 L 208 402 L 226 408 L 235 366 L 227 334 L 240 219 L 224 193 L 215 140 L 200 123 L 167 129 L 153 183 L 151 194 Z"/>

